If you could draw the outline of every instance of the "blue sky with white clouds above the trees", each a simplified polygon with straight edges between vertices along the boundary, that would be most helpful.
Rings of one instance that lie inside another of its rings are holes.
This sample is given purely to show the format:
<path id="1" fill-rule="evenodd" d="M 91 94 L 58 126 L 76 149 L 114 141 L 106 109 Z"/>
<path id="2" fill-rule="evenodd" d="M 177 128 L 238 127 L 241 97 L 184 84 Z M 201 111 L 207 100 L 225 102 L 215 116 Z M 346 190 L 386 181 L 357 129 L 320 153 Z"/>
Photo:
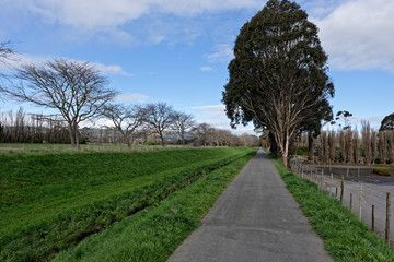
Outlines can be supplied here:
<path id="1" fill-rule="evenodd" d="M 351 122 L 394 112 L 394 1 L 298 0 L 320 28 L 335 85 L 334 112 Z M 66 58 L 89 61 L 125 104 L 165 102 L 198 122 L 230 129 L 221 103 L 242 25 L 265 0 L 0 0 L 0 41 L 11 63 Z M 12 64 L 11 64 L 12 66 Z M 7 70 L 0 68 L 0 70 Z M 23 106 L 0 100 L 0 111 Z M 332 128 L 332 127 L 326 127 Z M 253 133 L 239 127 L 234 133 Z"/>

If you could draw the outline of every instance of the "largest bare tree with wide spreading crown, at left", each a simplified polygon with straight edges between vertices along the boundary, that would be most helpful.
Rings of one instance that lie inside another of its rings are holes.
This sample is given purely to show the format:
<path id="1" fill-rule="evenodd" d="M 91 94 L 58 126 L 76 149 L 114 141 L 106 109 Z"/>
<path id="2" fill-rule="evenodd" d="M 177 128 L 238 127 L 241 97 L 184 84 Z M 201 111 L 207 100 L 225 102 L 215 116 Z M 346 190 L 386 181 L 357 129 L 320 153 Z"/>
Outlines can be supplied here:
<path id="1" fill-rule="evenodd" d="M 8 95 L 34 105 L 57 109 L 68 123 L 71 145 L 79 148 L 78 124 L 100 114 L 117 94 L 108 80 L 89 62 L 55 59 L 44 64 L 26 64 L 18 70 L 21 81 Z"/>

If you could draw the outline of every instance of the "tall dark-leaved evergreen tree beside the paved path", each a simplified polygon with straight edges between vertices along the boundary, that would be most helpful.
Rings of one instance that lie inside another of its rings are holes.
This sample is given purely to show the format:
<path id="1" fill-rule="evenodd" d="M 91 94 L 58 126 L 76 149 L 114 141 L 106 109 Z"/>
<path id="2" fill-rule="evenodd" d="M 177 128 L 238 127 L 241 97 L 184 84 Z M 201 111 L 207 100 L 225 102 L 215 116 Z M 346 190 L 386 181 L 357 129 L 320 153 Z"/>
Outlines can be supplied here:
<path id="1" fill-rule="evenodd" d="M 317 27 L 296 2 L 269 0 L 242 27 L 234 56 L 223 92 L 227 115 L 233 127 L 253 121 L 269 129 L 287 165 L 289 142 L 324 118 L 316 108 L 334 95 Z"/>

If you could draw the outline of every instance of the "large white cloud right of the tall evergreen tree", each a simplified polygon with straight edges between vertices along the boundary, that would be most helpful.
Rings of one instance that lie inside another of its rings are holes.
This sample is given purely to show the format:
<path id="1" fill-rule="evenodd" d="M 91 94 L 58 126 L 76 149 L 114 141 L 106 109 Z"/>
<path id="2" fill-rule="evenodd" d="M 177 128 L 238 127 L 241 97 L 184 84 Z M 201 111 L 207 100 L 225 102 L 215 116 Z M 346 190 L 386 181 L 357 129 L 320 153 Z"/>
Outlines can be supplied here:
<path id="1" fill-rule="evenodd" d="M 351 0 L 315 20 L 331 67 L 394 72 L 393 13 L 392 0 Z"/>

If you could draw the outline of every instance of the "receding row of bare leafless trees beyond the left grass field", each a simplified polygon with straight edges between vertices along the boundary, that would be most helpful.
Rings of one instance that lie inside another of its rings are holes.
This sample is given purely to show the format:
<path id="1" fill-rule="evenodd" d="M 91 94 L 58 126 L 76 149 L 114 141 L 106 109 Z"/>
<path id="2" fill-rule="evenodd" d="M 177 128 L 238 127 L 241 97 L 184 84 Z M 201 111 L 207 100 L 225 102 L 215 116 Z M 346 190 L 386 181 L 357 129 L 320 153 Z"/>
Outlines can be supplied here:
<path id="1" fill-rule="evenodd" d="M 0 62 L 10 59 L 13 52 L 9 43 L 1 44 Z M 182 144 L 186 143 L 187 138 L 198 138 L 202 144 L 210 145 L 245 144 L 228 131 L 213 129 L 209 124 L 197 126 L 193 116 L 176 111 L 165 103 L 115 104 L 114 98 L 118 93 L 108 85 L 108 79 L 89 62 L 55 59 L 43 64 L 24 64 L 15 70 L 12 81 L 3 74 L 0 79 L 0 98 L 28 102 L 58 112 L 56 117 L 32 116 L 28 124 L 25 124 L 24 112 L 20 110 L 15 121 L 10 116 L 11 123 L 4 124 L 4 120 L 0 122 L 0 141 L 3 142 L 69 141 L 79 148 L 81 123 L 105 118 L 112 124 L 106 127 L 104 133 L 115 131 L 112 133 L 116 141 L 121 139 L 129 147 L 138 135 L 152 134 L 157 134 L 164 146 L 165 135 L 171 132 L 176 133 Z M 65 135 L 65 128 L 68 135 Z M 102 130 L 100 133 L 103 133 Z"/>

